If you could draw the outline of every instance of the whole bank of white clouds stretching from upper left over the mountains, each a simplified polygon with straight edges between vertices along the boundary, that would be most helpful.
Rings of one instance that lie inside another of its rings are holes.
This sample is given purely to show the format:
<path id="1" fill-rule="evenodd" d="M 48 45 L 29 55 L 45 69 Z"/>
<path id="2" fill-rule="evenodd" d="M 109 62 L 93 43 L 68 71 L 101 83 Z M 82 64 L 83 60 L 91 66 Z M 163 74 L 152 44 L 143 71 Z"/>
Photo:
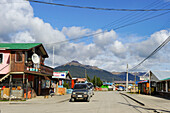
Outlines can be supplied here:
<path id="1" fill-rule="evenodd" d="M 54 46 L 55 66 L 77 60 L 109 71 L 125 71 L 127 63 L 130 67 L 136 65 L 170 36 L 169 30 L 161 30 L 145 40 L 133 42 L 128 38 L 119 40 L 119 35 L 114 30 L 103 32 L 101 29 L 93 31 L 85 27 L 71 26 L 63 27 L 60 31 L 39 17 L 35 17 L 29 2 L 16 0 L 15 2 L 24 2 L 17 4 L 7 1 L 14 2 L 1 0 L 4 4 L 0 5 L 0 42 L 43 43 L 50 56 L 46 59 L 48 65 L 52 64 L 52 47 Z M 67 38 L 72 39 L 98 32 L 102 33 L 92 36 L 90 43 L 66 42 L 52 45 L 54 42 L 65 41 Z M 155 63 L 170 63 L 167 60 L 170 56 L 167 50 L 170 50 L 168 45 L 139 69 L 149 70 Z"/>

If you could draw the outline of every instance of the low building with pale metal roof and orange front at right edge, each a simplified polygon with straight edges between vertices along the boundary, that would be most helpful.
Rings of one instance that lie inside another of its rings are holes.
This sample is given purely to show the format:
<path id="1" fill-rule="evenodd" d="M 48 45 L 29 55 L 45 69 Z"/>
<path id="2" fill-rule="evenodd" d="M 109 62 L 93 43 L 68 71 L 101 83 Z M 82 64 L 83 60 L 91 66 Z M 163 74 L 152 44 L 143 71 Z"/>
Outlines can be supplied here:
<path id="1" fill-rule="evenodd" d="M 170 97 L 170 71 L 149 71 L 149 76 L 138 82 L 140 93 Z"/>

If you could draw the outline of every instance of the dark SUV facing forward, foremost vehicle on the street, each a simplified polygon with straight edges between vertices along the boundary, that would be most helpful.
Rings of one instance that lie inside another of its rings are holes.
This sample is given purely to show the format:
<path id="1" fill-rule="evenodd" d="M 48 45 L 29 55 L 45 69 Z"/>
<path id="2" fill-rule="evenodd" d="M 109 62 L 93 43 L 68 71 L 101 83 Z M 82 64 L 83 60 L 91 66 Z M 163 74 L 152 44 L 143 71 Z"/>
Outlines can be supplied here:
<path id="1" fill-rule="evenodd" d="M 87 102 L 90 101 L 90 88 L 86 83 L 78 83 L 74 85 L 72 94 L 71 94 L 71 102 L 75 100 L 86 100 Z"/>

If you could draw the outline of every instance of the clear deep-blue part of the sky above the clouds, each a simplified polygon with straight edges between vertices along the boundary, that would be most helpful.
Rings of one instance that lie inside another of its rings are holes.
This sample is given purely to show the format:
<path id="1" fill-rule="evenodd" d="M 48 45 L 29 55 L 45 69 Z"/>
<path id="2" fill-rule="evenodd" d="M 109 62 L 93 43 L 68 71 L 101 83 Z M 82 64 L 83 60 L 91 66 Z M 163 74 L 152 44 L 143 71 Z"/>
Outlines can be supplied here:
<path id="1" fill-rule="evenodd" d="M 165 0 L 41 0 L 51 3 L 60 3 L 66 5 L 78 5 L 78 6 L 90 6 L 90 7 L 102 7 L 102 8 L 117 8 L 117 9 L 159 9 L 169 8 L 168 2 Z M 97 30 L 103 26 L 114 22 L 117 19 L 126 17 L 127 15 L 132 19 L 129 21 L 136 21 L 135 18 L 140 16 L 149 17 L 149 15 L 160 14 L 163 12 L 123 12 L 123 11 L 99 11 L 90 9 L 77 9 L 70 7 L 54 6 L 40 3 L 31 3 L 34 9 L 35 16 L 44 20 L 44 22 L 50 23 L 53 28 L 61 30 L 65 27 L 81 26 L 92 30 Z M 150 7 L 146 7 L 150 6 Z M 133 14 L 132 14 L 133 13 Z M 136 15 L 135 15 L 136 14 Z M 143 15 L 143 16 L 142 16 Z M 123 19 L 124 20 L 124 19 Z M 136 34 L 138 36 L 149 36 L 153 32 L 160 29 L 167 29 L 169 14 L 147 20 L 145 22 L 131 25 L 119 30 L 116 30 L 119 34 Z M 125 20 L 124 20 L 125 21 Z M 122 21 L 124 24 L 127 23 Z M 120 25 L 124 25 L 120 24 Z M 119 25 L 119 26 L 120 26 Z M 115 28 L 112 26 L 111 28 Z M 110 28 L 109 28 L 110 29 Z"/>

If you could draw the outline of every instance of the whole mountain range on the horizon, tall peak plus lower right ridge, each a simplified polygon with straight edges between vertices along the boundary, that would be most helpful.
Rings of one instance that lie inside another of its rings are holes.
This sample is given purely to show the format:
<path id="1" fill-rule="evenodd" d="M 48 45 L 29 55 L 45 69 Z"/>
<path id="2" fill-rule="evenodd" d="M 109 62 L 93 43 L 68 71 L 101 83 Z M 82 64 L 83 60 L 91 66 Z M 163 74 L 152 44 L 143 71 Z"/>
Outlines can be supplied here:
<path id="1" fill-rule="evenodd" d="M 126 72 L 108 72 L 96 66 L 83 65 L 78 61 L 72 61 L 54 68 L 54 71 L 69 71 L 73 78 L 84 78 L 85 70 L 87 75 L 92 79 L 95 75 L 102 81 L 126 81 Z M 129 81 L 139 81 L 140 76 L 145 72 L 131 72 L 128 74 Z"/>

